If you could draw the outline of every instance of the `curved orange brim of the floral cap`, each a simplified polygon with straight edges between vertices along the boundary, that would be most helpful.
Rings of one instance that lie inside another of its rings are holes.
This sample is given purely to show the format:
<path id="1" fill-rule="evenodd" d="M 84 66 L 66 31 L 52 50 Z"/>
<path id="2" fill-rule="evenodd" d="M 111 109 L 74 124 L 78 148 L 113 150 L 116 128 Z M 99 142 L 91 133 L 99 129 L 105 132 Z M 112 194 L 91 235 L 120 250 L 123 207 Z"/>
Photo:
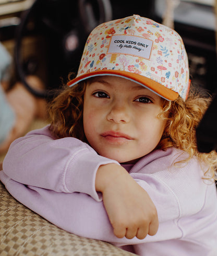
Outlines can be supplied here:
<path id="1" fill-rule="evenodd" d="M 159 84 L 158 82 L 155 82 L 154 80 L 141 76 L 139 74 L 127 72 L 127 71 L 119 71 L 119 70 L 111 70 L 111 69 L 105 69 L 105 70 L 98 70 L 98 71 L 93 71 L 90 73 L 83 74 L 81 76 L 78 76 L 74 78 L 73 80 L 70 80 L 68 82 L 68 86 L 74 86 L 77 83 L 91 78 L 95 76 L 118 76 L 118 77 L 123 77 L 126 79 L 131 80 L 132 82 L 138 83 L 151 91 L 155 92 L 155 94 L 158 94 L 159 96 L 163 97 L 166 100 L 175 100 L 178 98 L 178 92 L 175 92 L 164 85 Z"/>

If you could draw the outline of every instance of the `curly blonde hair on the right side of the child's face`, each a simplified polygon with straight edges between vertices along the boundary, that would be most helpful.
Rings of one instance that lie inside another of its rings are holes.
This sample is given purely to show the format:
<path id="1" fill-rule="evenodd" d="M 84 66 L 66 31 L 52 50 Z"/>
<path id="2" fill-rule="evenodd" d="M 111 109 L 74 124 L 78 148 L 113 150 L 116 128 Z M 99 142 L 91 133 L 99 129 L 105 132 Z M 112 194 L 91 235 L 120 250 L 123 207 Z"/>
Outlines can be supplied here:
<path id="1" fill-rule="evenodd" d="M 197 148 L 196 128 L 206 112 L 211 97 L 204 97 L 199 92 L 189 92 L 188 99 L 184 101 L 178 97 L 175 101 L 163 102 L 163 111 L 160 118 L 166 120 L 166 127 L 158 145 L 158 148 L 166 149 L 175 147 L 184 150 L 189 157 L 196 156 L 201 162 L 205 162 L 209 168 L 204 172 L 204 178 L 216 179 L 217 153 L 200 153 Z"/>

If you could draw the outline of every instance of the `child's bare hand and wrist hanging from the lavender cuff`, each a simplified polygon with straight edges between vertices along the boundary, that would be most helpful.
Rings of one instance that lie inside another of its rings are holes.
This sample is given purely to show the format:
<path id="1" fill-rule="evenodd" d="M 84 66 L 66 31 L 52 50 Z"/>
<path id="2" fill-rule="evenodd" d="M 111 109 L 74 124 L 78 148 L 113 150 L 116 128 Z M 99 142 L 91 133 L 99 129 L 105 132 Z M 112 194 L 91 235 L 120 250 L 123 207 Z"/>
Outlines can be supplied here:
<path id="1" fill-rule="evenodd" d="M 95 188 L 103 203 L 116 237 L 144 239 L 158 230 L 158 213 L 148 193 L 130 174 L 115 164 L 100 166 Z"/>

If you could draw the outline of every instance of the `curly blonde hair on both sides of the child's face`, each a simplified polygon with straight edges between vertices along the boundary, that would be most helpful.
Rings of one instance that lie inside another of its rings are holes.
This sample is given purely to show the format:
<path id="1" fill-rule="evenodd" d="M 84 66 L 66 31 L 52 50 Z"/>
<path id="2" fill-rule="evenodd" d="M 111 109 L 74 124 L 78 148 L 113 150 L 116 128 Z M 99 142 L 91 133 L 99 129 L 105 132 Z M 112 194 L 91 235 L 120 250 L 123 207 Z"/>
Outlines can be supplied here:
<path id="1" fill-rule="evenodd" d="M 81 82 L 73 87 L 64 85 L 62 91 L 50 106 L 50 131 L 56 138 L 76 137 L 88 143 L 83 130 L 83 96 L 86 83 Z M 214 178 L 217 168 L 217 153 L 199 153 L 196 142 L 196 127 L 210 104 L 210 97 L 202 97 L 199 93 L 190 92 L 184 101 L 178 97 L 175 101 L 162 99 L 163 111 L 159 118 L 166 120 L 166 127 L 157 148 L 175 147 L 188 153 L 188 161 L 192 156 L 198 157 L 209 166 L 206 178 Z"/>

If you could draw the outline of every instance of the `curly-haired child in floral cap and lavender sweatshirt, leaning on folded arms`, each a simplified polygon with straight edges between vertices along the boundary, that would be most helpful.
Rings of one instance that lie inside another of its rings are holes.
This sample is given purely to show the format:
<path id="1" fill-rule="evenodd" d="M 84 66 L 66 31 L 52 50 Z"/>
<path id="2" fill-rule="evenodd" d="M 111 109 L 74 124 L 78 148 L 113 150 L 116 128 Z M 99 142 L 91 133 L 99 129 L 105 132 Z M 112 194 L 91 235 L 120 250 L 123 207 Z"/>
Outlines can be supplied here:
<path id="1" fill-rule="evenodd" d="M 11 195 L 58 227 L 139 255 L 214 254 L 217 158 L 195 141 L 209 100 L 187 99 L 180 36 L 138 15 L 106 22 L 68 85 L 51 125 L 11 144 L 0 172 Z"/>

